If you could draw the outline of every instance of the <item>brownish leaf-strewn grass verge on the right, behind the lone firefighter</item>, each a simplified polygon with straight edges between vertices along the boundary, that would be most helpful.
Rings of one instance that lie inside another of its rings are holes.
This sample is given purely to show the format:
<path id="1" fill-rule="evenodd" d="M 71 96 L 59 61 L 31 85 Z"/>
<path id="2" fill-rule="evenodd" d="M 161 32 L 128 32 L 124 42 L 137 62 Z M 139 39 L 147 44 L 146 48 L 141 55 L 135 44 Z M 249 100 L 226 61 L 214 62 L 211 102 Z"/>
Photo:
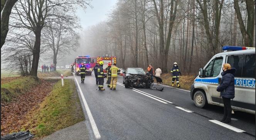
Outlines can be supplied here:
<path id="1" fill-rule="evenodd" d="M 172 86 L 172 77 L 171 77 L 170 73 L 162 74 L 161 78 L 163 80 L 164 85 Z M 182 88 L 184 90 L 190 90 L 190 87 L 193 84 L 193 79 L 194 79 L 194 76 L 189 76 L 189 75 L 180 76 L 179 77 L 179 82 L 180 82 L 180 86 L 181 86 L 180 88 Z M 175 86 L 177 86 L 176 80 L 175 80 Z"/>

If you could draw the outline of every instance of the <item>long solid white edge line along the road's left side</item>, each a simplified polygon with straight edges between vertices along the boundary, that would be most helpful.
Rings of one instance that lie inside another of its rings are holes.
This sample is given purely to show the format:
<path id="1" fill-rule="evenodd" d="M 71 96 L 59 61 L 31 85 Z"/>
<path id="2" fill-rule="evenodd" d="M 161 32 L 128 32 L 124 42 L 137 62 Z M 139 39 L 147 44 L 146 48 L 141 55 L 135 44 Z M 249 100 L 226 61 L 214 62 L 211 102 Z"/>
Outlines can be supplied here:
<path id="1" fill-rule="evenodd" d="M 101 138 L 101 135 L 99 134 L 99 130 L 98 130 L 98 128 L 97 128 L 96 123 L 94 122 L 93 115 L 91 114 L 91 111 L 90 111 L 90 109 L 89 109 L 89 106 L 88 106 L 88 104 L 87 104 L 87 102 L 86 102 L 86 100 L 85 100 L 85 98 L 84 98 L 84 94 L 83 94 L 83 92 L 82 92 L 82 90 L 81 90 L 81 87 L 80 87 L 79 83 L 77 82 L 77 79 L 76 79 L 76 76 L 75 76 L 75 75 L 74 75 L 74 79 L 76 80 L 76 83 L 77 83 L 79 92 L 80 92 L 81 97 L 82 97 L 82 99 L 83 99 L 84 107 L 85 107 L 86 112 L 87 112 L 87 115 L 88 115 L 88 117 L 89 117 L 89 120 L 90 120 L 90 123 L 91 123 L 91 127 L 93 128 L 94 136 L 95 136 L 96 139 L 99 139 L 99 138 Z"/>

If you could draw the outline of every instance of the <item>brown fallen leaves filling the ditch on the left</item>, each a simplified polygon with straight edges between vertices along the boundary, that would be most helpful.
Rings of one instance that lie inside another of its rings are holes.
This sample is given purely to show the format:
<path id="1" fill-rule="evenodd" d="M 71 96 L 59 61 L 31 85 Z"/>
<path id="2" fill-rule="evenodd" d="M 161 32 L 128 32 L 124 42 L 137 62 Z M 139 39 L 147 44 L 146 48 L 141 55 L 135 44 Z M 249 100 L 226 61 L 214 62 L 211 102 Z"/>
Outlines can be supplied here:
<path id="1" fill-rule="evenodd" d="M 19 132 L 26 122 L 25 114 L 39 104 L 51 92 L 56 81 L 41 80 L 41 83 L 30 92 L 15 98 L 12 102 L 1 104 L 1 135 Z"/>

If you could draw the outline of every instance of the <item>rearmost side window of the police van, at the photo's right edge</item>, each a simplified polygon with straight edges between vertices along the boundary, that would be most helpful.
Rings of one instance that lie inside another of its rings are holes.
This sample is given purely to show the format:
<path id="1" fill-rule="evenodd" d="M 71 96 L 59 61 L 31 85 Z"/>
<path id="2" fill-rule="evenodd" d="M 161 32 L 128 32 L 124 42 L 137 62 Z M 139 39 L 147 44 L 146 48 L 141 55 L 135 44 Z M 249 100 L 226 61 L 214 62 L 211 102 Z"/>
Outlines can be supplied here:
<path id="1" fill-rule="evenodd" d="M 255 54 L 244 55 L 242 76 L 255 78 Z"/>

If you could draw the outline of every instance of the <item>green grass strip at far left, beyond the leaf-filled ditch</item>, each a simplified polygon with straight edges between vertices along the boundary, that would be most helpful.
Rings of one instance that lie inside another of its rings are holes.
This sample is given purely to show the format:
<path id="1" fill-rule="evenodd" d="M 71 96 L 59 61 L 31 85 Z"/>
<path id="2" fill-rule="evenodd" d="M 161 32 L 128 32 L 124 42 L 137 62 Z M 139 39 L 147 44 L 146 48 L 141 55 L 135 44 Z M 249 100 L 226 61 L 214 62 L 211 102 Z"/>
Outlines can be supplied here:
<path id="1" fill-rule="evenodd" d="M 37 84 L 39 84 L 39 80 L 30 76 L 20 77 L 8 83 L 1 84 L 1 103 L 10 102 L 13 98 L 27 92 Z"/>

